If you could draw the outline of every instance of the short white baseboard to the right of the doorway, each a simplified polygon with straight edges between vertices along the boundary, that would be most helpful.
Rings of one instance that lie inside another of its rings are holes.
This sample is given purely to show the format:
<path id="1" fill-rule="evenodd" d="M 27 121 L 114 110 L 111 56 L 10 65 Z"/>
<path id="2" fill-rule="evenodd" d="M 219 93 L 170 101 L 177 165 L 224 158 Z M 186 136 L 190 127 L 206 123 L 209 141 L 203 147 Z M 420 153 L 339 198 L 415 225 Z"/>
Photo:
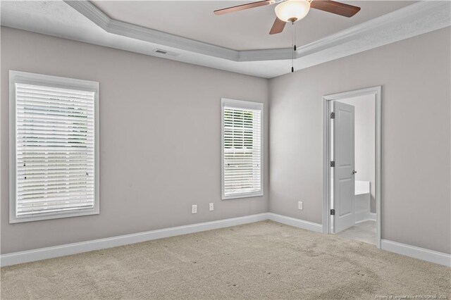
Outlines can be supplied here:
<path id="1" fill-rule="evenodd" d="M 381 249 L 405 256 L 410 256 L 413 258 L 418 258 L 423 261 L 429 261 L 431 263 L 438 263 L 440 265 L 451 267 L 451 254 L 445 254 L 442 252 L 428 250 L 416 246 L 392 242 L 388 239 L 381 239 Z"/>

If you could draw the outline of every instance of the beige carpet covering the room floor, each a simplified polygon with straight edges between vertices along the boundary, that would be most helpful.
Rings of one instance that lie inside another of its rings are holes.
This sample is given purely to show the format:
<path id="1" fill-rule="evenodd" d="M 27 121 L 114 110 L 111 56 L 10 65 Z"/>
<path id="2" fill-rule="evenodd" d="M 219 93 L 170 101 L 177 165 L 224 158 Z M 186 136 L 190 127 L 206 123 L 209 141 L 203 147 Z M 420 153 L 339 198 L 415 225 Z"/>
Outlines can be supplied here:
<path id="1" fill-rule="evenodd" d="M 442 265 L 264 221 L 2 268 L 1 299 L 450 299 L 450 280 Z"/>

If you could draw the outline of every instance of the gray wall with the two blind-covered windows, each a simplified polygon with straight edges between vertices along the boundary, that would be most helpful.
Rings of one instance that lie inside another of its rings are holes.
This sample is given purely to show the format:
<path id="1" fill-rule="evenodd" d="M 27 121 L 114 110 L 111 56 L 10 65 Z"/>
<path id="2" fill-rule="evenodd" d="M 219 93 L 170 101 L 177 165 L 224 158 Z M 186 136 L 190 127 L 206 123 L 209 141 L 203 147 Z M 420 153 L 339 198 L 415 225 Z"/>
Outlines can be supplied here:
<path id="1" fill-rule="evenodd" d="M 100 215 L 8 224 L 8 70 L 100 82 Z M 221 97 L 264 103 L 263 197 L 221 201 Z M 265 213 L 267 112 L 265 79 L 1 27 L 1 253 Z"/>

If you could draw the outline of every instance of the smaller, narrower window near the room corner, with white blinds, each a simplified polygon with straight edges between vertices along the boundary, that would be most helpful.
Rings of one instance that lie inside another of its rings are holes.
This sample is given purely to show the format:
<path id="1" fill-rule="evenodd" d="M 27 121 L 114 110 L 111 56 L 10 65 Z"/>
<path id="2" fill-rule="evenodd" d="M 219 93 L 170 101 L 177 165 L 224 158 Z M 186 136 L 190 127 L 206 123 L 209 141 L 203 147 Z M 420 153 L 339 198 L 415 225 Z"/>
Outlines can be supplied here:
<path id="1" fill-rule="evenodd" d="M 263 195 L 263 104 L 221 100 L 222 199 Z"/>

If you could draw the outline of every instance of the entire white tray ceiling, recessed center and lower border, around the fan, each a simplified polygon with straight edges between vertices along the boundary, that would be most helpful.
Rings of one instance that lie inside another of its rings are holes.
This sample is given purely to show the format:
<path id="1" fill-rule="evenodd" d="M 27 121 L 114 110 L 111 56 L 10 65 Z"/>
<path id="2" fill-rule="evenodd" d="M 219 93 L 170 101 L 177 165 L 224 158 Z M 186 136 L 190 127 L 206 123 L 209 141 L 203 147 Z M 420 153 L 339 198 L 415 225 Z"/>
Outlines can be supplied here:
<path id="1" fill-rule="evenodd" d="M 344 18 L 311 10 L 300 20 L 295 53 L 290 28 L 268 35 L 271 6 L 213 13 L 242 1 L 1 1 L 0 21 L 20 30 L 265 78 L 290 73 L 292 63 L 302 70 L 451 26 L 451 1 L 346 2 L 362 11 Z"/>

